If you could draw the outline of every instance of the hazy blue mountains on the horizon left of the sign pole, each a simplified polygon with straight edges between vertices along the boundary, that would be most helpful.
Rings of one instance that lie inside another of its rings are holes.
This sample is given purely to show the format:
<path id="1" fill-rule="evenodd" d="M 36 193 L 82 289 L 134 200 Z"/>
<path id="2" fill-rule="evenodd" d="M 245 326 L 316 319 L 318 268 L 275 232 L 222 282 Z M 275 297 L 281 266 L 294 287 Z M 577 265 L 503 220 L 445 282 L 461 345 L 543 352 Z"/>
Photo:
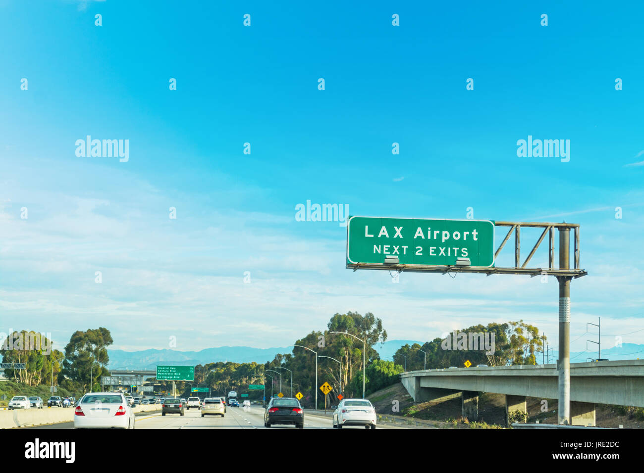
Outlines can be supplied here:
<path id="1" fill-rule="evenodd" d="M 375 350 L 383 359 L 391 359 L 393 353 L 410 340 L 388 340 L 376 344 Z M 178 351 L 172 349 L 149 349 L 141 351 L 108 350 L 109 369 L 156 369 L 158 364 L 204 365 L 214 362 L 265 363 L 272 361 L 278 353 L 292 353 L 292 347 L 253 348 L 247 346 L 222 346 L 205 348 L 200 351 Z"/>

